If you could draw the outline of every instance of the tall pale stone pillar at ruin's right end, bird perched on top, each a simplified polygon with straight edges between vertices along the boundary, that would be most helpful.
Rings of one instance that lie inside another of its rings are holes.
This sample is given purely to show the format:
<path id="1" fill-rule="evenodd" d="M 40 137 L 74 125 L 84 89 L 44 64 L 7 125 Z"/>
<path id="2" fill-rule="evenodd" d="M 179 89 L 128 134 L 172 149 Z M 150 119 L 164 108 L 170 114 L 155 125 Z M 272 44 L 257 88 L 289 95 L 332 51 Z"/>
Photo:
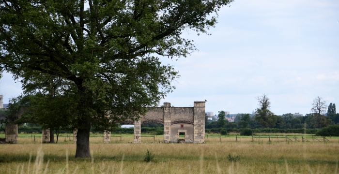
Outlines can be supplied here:
<path id="1" fill-rule="evenodd" d="M 205 102 L 194 102 L 193 143 L 205 142 Z"/>

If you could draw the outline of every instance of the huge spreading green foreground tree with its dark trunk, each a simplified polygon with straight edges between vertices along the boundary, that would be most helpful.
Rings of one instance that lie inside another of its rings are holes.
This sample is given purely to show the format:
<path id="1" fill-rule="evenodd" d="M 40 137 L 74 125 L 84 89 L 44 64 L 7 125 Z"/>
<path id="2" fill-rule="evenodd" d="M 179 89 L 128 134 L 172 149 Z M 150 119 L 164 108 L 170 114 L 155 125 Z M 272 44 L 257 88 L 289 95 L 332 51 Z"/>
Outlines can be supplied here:
<path id="1" fill-rule="evenodd" d="M 138 119 L 174 89 L 178 73 L 153 55 L 196 50 L 182 32 L 205 33 L 216 24 L 210 14 L 231 1 L 88 0 L 86 9 L 85 0 L 3 0 L 0 71 L 27 84 L 35 83 L 34 74 L 71 82 L 76 157 L 88 158 L 91 128 L 111 131 L 115 121 Z"/>

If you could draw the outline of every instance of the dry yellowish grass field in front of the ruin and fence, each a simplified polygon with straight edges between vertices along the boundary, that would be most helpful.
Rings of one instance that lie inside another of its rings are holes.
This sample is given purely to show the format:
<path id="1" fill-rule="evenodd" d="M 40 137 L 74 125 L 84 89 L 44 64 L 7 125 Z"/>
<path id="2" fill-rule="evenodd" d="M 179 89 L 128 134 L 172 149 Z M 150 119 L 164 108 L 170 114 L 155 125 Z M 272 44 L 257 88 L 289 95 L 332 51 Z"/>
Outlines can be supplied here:
<path id="1" fill-rule="evenodd" d="M 19 134 L 19 136 L 31 134 Z M 113 135 L 112 135 L 113 136 Z M 275 135 L 270 135 L 274 137 Z M 304 135 L 305 136 L 305 135 Z M 292 138 L 292 137 L 291 137 Z M 92 159 L 75 159 L 76 145 L 69 138 L 41 144 L 39 138 L 18 138 L 19 144 L 0 145 L 1 174 L 336 174 L 339 139 L 331 142 L 292 142 L 285 138 L 235 136 L 206 138 L 205 144 L 129 144 L 133 135 L 91 138 Z M 155 142 L 162 141 L 161 136 Z M 143 159 L 150 149 L 152 162 Z M 228 155 L 239 161 L 228 160 Z"/>

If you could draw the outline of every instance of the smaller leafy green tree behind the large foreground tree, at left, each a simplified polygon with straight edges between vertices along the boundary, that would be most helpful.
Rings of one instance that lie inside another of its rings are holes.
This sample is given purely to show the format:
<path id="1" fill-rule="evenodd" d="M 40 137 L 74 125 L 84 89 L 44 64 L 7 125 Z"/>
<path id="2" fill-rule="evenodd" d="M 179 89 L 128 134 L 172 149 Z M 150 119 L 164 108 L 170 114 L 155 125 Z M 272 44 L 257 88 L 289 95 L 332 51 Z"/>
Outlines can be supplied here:
<path id="1" fill-rule="evenodd" d="M 38 123 L 43 129 L 49 129 L 50 142 L 54 143 L 54 130 L 59 139 L 60 130 L 73 131 L 72 120 L 77 114 L 77 98 L 70 81 L 49 74 L 32 74 L 30 82 L 22 81 L 25 92 L 20 96 L 26 104 L 26 113 L 16 123 Z"/>

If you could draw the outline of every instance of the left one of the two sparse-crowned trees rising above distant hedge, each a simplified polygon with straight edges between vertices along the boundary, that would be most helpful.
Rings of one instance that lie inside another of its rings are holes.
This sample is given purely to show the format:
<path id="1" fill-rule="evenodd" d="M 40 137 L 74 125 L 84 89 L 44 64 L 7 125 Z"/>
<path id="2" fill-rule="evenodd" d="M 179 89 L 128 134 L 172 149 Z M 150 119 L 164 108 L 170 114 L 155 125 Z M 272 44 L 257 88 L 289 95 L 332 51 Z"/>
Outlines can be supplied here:
<path id="1" fill-rule="evenodd" d="M 273 128 L 276 126 L 277 117 L 272 113 L 269 108 L 271 105 L 270 99 L 266 94 L 256 97 L 259 102 L 259 108 L 256 109 L 254 118 L 265 128 Z"/>

